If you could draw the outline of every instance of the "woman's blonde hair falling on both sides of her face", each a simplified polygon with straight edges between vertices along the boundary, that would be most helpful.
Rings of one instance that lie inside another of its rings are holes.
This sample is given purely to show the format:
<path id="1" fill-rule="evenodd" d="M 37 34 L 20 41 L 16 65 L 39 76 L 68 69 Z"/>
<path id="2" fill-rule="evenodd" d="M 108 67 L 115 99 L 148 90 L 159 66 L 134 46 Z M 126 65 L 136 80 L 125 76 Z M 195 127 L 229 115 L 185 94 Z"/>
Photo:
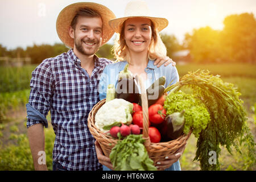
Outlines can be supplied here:
<path id="1" fill-rule="evenodd" d="M 155 28 L 154 23 L 151 22 L 152 38 L 150 46 L 148 47 L 148 59 L 155 60 L 158 57 L 166 56 L 166 46 L 160 38 L 159 31 Z M 121 33 L 117 34 L 117 38 L 114 41 L 114 54 L 117 61 L 126 60 L 130 62 L 129 48 L 125 42 L 125 22 L 122 24 Z"/>

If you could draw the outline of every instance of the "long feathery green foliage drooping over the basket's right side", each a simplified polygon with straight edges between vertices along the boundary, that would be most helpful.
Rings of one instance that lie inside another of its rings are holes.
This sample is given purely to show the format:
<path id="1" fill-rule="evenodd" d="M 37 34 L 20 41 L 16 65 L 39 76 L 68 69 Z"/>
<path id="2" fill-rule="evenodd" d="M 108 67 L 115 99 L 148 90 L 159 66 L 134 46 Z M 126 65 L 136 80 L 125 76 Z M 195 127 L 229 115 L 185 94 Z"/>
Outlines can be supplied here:
<path id="1" fill-rule="evenodd" d="M 232 146 L 240 153 L 240 147 L 247 147 L 250 159 L 255 161 L 254 138 L 247 126 L 246 110 L 237 88 L 232 83 L 222 81 L 218 75 L 198 70 L 181 77 L 179 82 L 168 86 L 165 92 L 175 93 L 184 85 L 191 88 L 193 94 L 204 102 L 210 114 L 210 122 L 197 139 L 194 160 L 200 161 L 201 169 L 220 169 L 220 145 L 225 146 L 230 154 Z M 216 164 L 208 161 L 210 151 L 216 152 Z"/>

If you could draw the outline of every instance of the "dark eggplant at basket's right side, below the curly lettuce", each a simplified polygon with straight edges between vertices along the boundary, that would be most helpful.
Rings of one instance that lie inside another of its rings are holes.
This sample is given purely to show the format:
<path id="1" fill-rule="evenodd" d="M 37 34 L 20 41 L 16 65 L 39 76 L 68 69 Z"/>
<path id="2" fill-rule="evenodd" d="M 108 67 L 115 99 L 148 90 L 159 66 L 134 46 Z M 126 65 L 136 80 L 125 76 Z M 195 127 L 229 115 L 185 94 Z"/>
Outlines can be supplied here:
<path id="1" fill-rule="evenodd" d="M 179 138 L 184 130 L 185 110 L 168 115 L 163 123 L 159 125 L 162 142 Z"/>

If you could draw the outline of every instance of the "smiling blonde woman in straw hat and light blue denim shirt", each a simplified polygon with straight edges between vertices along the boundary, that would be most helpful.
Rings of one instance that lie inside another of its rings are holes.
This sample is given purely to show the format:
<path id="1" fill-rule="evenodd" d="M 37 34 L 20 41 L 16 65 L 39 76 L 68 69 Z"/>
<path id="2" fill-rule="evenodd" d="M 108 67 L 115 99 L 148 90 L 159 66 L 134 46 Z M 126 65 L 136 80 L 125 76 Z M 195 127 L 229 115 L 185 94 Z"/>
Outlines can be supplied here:
<path id="1" fill-rule="evenodd" d="M 106 88 L 109 84 L 117 86 L 118 73 L 129 64 L 129 71 L 134 76 L 142 78 L 145 88 L 148 88 L 159 77 L 166 76 L 166 84 L 175 84 L 179 81 L 177 69 L 172 65 L 156 67 L 154 60 L 166 56 L 166 47 L 159 36 L 159 31 L 168 25 L 164 18 L 154 18 L 148 15 L 147 5 L 141 1 L 130 2 L 126 6 L 126 15 L 123 18 L 110 20 L 110 27 L 118 33 L 114 44 L 117 63 L 107 65 L 102 73 L 99 84 L 100 99 L 106 97 Z M 160 170 L 181 170 L 179 158 L 184 151 L 181 148 L 166 160 L 158 162 Z M 113 169 L 109 158 L 103 155 L 98 142 L 96 152 L 104 170 Z M 108 167 L 108 168 L 106 168 Z"/>

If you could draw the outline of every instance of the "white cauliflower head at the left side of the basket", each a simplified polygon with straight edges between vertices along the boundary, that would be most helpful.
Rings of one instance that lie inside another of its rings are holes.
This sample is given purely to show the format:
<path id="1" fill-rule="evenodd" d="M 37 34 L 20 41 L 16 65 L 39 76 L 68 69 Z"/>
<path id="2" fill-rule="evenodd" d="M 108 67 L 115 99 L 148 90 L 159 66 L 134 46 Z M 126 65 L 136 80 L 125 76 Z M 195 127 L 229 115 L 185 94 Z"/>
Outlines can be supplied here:
<path id="1" fill-rule="evenodd" d="M 95 126 L 98 127 L 102 132 L 103 127 L 107 125 L 112 125 L 115 122 L 121 122 L 126 125 L 130 125 L 133 121 L 131 116 L 133 113 L 133 104 L 122 98 L 115 98 L 114 100 L 106 102 L 97 111 L 95 115 Z"/>

